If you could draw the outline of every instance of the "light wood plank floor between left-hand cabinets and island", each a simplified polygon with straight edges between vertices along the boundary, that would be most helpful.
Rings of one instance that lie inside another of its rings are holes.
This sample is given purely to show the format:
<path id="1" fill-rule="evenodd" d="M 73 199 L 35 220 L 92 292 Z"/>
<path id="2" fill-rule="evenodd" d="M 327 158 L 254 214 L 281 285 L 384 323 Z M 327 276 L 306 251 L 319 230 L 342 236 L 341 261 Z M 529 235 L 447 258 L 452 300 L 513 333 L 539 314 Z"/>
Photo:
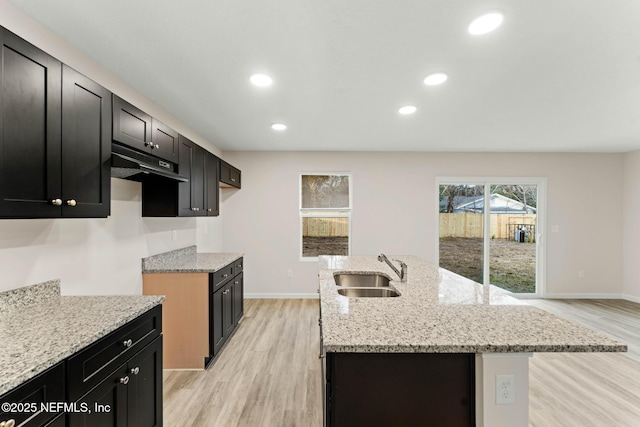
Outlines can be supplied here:
<path id="1" fill-rule="evenodd" d="M 245 300 L 206 371 L 164 372 L 164 425 L 321 426 L 317 300 Z"/>

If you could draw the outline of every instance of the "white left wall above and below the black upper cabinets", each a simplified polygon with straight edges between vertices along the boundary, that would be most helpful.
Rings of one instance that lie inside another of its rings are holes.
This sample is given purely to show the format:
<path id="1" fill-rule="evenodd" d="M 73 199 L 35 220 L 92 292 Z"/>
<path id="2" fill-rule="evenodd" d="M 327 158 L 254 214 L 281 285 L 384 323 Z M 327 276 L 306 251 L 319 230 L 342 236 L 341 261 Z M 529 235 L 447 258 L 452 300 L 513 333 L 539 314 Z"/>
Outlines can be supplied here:
<path id="1" fill-rule="evenodd" d="M 220 153 L 5 0 L 0 0 L 0 25 Z M 137 294 L 142 290 L 142 257 L 194 244 L 209 251 L 221 249 L 221 218 L 142 218 L 140 184 L 112 179 L 111 185 L 107 219 L 0 220 L 0 291 L 59 278 L 64 294 Z M 172 230 L 177 232 L 176 241 Z"/>

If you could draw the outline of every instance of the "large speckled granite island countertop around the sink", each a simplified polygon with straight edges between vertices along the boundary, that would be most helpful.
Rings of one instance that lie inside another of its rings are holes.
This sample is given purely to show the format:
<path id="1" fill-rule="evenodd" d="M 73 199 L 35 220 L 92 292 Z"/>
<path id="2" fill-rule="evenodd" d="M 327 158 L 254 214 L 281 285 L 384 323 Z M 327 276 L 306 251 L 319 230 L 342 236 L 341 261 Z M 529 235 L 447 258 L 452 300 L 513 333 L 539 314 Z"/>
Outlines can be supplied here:
<path id="1" fill-rule="evenodd" d="M 375 256 L 319 258 L 326 352 L 511 353 L 619 352 L 627 346 L 485 287 L 415 256 L 407 282 Z M 394 263 L 397 264 L 397 263 Z M 335 272 L 379 272 L 400 293 L 392 298 L 339 295 Z"/>

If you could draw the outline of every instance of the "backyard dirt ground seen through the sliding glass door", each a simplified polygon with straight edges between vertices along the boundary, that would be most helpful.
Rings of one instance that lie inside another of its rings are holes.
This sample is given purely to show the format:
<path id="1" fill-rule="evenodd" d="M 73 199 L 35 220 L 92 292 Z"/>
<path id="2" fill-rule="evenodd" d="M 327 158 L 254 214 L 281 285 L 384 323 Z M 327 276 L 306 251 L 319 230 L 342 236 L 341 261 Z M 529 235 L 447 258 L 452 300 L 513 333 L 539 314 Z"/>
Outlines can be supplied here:
<path id="1" fill-rule="evenodd" d="M 490 242 L 490 282 L 517 293 L 535 292 L 536 245 Z M 482 239 L 440 239 L 440 267 L 482 283 Z"/>

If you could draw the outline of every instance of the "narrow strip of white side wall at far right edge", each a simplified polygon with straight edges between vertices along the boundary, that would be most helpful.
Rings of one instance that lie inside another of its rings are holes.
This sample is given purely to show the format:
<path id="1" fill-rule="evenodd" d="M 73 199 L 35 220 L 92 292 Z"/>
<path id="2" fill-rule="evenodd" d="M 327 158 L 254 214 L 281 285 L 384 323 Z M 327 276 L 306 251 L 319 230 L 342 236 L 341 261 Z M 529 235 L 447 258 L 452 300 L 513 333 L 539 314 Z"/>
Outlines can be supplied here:
<path id="1" fill-rule="evenodd" d="M 624 293 L 640 302 L 640 151 L 624 156 Z"/>

